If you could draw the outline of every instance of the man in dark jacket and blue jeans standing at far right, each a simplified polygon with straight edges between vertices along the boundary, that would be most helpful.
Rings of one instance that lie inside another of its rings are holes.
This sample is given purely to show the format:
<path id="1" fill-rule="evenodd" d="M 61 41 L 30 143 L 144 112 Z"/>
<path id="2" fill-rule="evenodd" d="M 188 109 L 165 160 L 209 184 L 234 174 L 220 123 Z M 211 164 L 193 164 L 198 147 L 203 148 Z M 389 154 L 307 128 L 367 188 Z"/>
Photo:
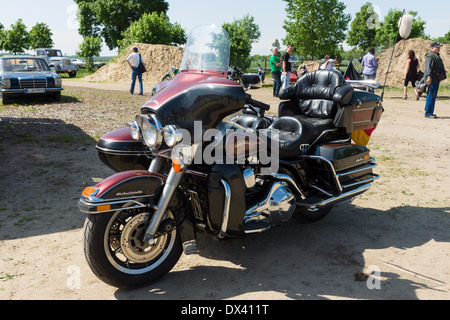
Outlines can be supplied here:
<path id="1" fill-rule="evenodd" d="M 426 55 L 424 78 L 428 85 L 427 100 L 425 103 L 425 118 L 436 119 L 434 107 L 439 90 L 439 82 L 447 78 L 447 74 L 439 55 L 442 45 L 439 42 L 431 43 L 431 50 Z"/>

